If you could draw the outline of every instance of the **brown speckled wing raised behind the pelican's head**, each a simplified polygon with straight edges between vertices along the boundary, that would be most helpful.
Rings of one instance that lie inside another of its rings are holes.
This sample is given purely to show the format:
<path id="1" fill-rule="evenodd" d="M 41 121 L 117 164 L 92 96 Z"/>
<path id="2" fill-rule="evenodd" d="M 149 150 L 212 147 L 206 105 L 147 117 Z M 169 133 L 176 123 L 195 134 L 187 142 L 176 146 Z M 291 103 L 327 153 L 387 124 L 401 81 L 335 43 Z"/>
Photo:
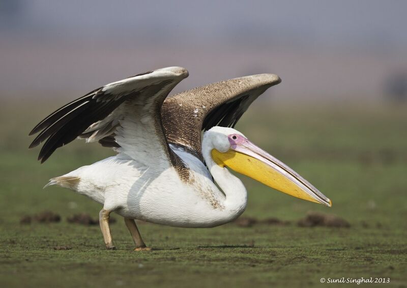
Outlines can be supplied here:
<path id="1" fill-rule="evenodd" d="M 280 82 L 275 74 L 251 75 L 168 97 L 161 110 L 168 142 L 183 146 L 203 161 L 201 131 L 234 127 L 260 94 Z"/>

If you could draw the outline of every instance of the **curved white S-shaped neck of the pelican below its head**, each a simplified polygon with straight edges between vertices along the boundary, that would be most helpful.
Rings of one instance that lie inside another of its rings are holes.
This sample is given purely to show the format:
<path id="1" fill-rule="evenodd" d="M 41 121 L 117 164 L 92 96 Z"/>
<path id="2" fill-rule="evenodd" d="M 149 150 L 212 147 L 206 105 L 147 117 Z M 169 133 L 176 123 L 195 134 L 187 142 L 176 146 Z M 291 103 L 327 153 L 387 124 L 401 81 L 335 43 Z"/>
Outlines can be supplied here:
<path id="1" fill-rule="evenodd" d="M 242 181 L 232 175 L 226 167 L 221 167 L 212 159 L 214 149 L 210 137 L 202 140 L 202 155 L 216 184 L 225 194 L 223 206 L 230 213 L 232 219 L 237 218 L 246 209 L 247 191 Z"/>

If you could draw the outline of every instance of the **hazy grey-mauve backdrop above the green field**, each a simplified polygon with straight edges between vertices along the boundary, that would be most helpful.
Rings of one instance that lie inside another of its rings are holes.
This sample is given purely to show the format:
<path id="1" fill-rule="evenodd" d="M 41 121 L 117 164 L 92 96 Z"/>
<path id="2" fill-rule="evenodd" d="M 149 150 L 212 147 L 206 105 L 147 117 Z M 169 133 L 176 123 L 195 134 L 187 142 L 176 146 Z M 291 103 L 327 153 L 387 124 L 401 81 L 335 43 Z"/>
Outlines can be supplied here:
<path id="1" fill-rule="evenodd" d="M 178 65 L 190 85 L 274 72 L 282 95 L 377 94 L 407 68 L 406 13 L 407 1 L 0 0 L 0 91 Z"/>

